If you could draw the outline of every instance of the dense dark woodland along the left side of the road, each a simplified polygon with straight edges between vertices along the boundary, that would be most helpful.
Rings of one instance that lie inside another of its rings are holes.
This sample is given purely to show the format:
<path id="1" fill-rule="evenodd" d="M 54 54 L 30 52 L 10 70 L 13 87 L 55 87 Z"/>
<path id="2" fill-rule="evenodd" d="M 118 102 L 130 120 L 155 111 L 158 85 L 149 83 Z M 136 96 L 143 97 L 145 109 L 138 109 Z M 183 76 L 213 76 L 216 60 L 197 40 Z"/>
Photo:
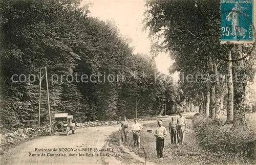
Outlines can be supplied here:
<path id="1" fill-rule="evenodd" d="M 40 121 L 48 123 L 45 66 L 51 112 L 68 112 L 78 122 L 118 119 L 119 115 L 135 117 L 136 101 L 138 116 L 157 115 L 162 112 L 163 104 L 172 104 L 178 98 L 172 83 L 162 78 L 155 80 L 157 68 L 152 59 L 134 54 L 129 39 L 122 37 L 113 23 L 89 17 L 88 6 L 79 4 L 78 0 L 1 1 L 3 124 L 11 127 L 36 124 L 39 79 L 28 82 L 28 75 L 39 77 L 40 68 L 43 76 Z M 135 72 L 137 76 L 132 74 Z M 14 74 L 17 74 L 15 81 L 22 74 L 27 81 L 13 82 Z M 58 75 L 58 81 L 54 74 Z M 82 74 L 101 77 L 82 82 Z M 71 76 L 60 81 L 60 75 L 72 75 L 74 79 L 78 75 L 80 81 L 72 81 Z M 114 75 L 115 81 L 107 79 L 109 75 Z"/>

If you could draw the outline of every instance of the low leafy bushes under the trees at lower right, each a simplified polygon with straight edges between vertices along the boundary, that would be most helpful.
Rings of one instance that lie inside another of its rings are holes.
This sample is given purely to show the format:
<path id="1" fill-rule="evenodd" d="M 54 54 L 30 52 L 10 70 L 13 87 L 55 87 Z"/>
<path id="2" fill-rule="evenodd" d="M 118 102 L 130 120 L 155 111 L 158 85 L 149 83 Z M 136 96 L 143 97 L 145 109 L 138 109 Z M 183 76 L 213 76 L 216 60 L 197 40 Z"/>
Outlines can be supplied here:
<path id="1" fill-rule="evenodd" d="M 208 151 L 233 156 L 242 162 L 255 160 L 255 127 L 243 126 L 231 130 L 232 125 L 224 123 L 220 119 L 195 116 L 193 127 L 199 144 Z"/>

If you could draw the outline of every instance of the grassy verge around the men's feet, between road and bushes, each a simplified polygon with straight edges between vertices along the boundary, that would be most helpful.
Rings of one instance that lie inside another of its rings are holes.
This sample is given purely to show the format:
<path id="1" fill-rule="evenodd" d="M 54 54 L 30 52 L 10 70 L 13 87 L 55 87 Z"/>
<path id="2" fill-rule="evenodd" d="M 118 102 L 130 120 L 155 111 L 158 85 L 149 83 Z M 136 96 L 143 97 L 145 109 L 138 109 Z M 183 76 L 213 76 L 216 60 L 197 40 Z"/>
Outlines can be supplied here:
<path id="1" fill-rule="evenodd" d="M 184 145 L 171 145 L 170 134 L 165 137 L 164 146 L 164 159 L 158 159 L 156 153 L 155 137 L 153 134 L 146 132 L 148 129 L 154 130 L 156 123 L 144 125 L 144 129 L 141 132 L 141 145 L 140 149 L 133 146 L 133 140 L 131 132 L 129 133 L 129 143 L 124 146 L 133 151 L 140 157 L 146 156 L 147 161 L 154 162 L 156 164 L 238 164 L 239 162 L 228 155 L 220 155 L 218 153 L 207 152 L 203 150 L 196 141 L 195 132 L 192 128 L 191 120 L 188 121 L 188 131 L 185 134 Z M 163 126 L 168 128 L 169 121 L 163 122 Z M 116 132 L 112 134 L 110 141 L 120 147 L 120 133 Z M 144 150 L 143 150 L 144 149 Z M 133 157 L 127 153 L 120 153 L 122 159 L 126 164 L 134 163 Z M 127 159 L 125 158 L 127 157 Z"/>

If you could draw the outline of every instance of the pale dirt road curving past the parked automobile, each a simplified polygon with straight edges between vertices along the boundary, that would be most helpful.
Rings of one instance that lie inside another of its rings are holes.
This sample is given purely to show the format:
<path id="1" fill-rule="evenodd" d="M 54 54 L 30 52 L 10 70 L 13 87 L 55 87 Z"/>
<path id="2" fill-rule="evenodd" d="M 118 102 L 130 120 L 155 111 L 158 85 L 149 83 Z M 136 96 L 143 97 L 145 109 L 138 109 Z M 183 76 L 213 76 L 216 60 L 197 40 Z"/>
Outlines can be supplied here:
<path id="1" fill-rule="evenodd" d="M 170 118 L 164 118 L 163 120 L 170 120 Z M 156 122 L 156 120 L 140 123 L 149 124 L 153 122 Z M 102 164 L 102 157 L 100 156 L 99 150 L 106 144 L 108 136 L 117 131 L 118 127 L 119 125 L 89 127 L 77 129 L 76 134 L 70 134 L 69 136 L 53 135 L 39 137 L 9 149 L 4 153 L 0 162 L 2 164 L 15 165 Z M 57 151 L 54 151 L 54 149 Z M 95 154 L 98 154 L 98 156 L 95 156 Z M 122 164 L 114 156 L 108 156 L 107 160 L 104 160 L 104 164 L 105 162 Z"/>

